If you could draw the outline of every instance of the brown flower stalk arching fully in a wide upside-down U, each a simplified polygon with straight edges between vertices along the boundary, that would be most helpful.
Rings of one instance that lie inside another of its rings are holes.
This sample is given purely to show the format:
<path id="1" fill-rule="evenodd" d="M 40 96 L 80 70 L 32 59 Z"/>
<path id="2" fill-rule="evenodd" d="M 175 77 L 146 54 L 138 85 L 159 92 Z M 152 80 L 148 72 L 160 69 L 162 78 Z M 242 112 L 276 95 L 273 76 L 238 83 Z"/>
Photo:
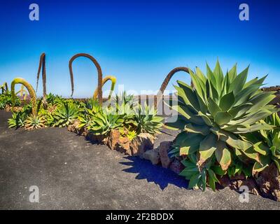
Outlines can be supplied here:
<path id="1" fill-rule="evenodd" d="M 97 75 L 98 75 L 97 95 L 98 95 L 99 104 L 102 104 L 102 69 L 101 69 L 101 66 L 99 65 L 99 63 L 97 62 L 97 60 L 94 59 L 94 57 L 92 57 L 91 55 L 85 54 L 85 53 L 79 53 L 79 54 L 73 55 L 73 57 L 71 57 L 71 59 L 69 61 L 69 71 L 70 71 L 71 91 L 72 91 L 71 92 L 71 97 L 73 96 L 73 92 L 74 92 L 72 63 L 73 63 L 73 60 L 76 59 L 77 57 L 87 57 L 96 66 Z"/>

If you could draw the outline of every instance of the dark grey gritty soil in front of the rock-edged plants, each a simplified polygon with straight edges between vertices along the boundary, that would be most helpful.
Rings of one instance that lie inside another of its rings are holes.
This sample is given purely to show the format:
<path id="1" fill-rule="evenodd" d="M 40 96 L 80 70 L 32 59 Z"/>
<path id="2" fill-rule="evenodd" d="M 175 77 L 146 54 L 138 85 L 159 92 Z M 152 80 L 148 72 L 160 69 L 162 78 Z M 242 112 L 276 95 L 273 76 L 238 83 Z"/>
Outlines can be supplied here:
<path id="1" fill-rule="evenodd" d="M 188 182 L 148 160 L 94 145 L 64 128 L 8 129 L 0 111 L 0 209 L 280 209 L 280 203 L 224 189 L 187 190 Z M 164 130 L 160 141 L 174 139 Z M 29 202 L 38 186 L 39 203 Z"/>

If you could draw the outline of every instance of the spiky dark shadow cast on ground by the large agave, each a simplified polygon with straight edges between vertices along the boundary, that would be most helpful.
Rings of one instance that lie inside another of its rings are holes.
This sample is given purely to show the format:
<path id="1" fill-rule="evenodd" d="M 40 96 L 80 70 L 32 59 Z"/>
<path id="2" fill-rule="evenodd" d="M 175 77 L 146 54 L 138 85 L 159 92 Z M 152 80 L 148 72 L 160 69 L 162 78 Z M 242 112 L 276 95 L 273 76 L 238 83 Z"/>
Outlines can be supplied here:
<path id="1" fill-rule="evenodd" d="M 123 169 L 123 171 L 138 174 L 135 179 L 146 179 L 148 182 L 153 182 L 160 186 L 161 190 L 167 188 L 169 184 L 179 188 L 188 188 L 188 181 L 170 169 L 153 165 L 150 161 L 136 156 L 127 156 L 125 159 L 130 161 L 120 162 L 120 164 L 129 166 L 129 168 Z"/>

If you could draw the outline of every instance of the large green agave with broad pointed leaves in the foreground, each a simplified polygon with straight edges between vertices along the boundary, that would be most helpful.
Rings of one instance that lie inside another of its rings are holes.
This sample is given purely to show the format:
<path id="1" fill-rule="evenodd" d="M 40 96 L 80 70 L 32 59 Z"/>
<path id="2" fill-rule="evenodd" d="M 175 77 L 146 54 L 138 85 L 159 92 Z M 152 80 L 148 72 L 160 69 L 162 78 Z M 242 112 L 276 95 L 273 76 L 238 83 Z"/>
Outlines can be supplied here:
<path id="1" fill-rule="evenodd" d="M 260 90 L 266 76 L 246 82 L 248 67 L 237 75 L 235 65 L 224 75 L 217 62 L 214 71 L 207 64 L 207 76 L 199 68 L 195 73 L 190 71 L 190 76 L 194 87 L 181 81 L 175 86 L 178 105 L 172 109 L 179 116 L 175 123 L 166 125 L 181 133 L 170 153 L 185 158 L 186 169 L 181 175 L 190 179 L 191 187 L 205 189 L 208 180 L 214 188 L 217 179 L 211 167 L 218 165 L 226 171 L 232 155 L 244 162 L 261 162 L 253 144 L 239 134 L 272 129 L 262 119 L 277 111 L 267 105 L 274 99 L 274 92 Z"/>

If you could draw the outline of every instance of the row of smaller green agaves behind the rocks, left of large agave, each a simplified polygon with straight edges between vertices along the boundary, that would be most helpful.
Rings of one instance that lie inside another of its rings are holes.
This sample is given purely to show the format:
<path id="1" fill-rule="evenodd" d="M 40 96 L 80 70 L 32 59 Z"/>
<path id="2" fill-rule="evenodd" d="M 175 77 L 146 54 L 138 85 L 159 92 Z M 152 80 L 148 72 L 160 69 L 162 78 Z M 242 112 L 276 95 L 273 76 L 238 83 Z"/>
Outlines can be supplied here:
<path id="1" fill-rule="evenodd" d="M 22 79 L 16 79 L 13 83 L 17 81 L 24 83 Z M 92 134 L 108 136 L 111 130 L 119 129 L 131 138 L 143 132 L 157 134 L 162 127 L 163 119 L 156 115 L 153 108 L 141 106 L 134 102 L 132 95 L 125 92 L 112 100 L 116 102 L 116 107 L 112 104 L 103 107 L 97 99 L 83 102 L 64 99 L 51 93 L 46 94 L 43 104 L 43 98 L 36 99 L 34 90 L 29 90 L 31 102 L 13 112 L 12 118 L 8 120 L 10 128 L 34 130 L 42 127 L 67 127 L 78 120 L 78 128 Z"/>

